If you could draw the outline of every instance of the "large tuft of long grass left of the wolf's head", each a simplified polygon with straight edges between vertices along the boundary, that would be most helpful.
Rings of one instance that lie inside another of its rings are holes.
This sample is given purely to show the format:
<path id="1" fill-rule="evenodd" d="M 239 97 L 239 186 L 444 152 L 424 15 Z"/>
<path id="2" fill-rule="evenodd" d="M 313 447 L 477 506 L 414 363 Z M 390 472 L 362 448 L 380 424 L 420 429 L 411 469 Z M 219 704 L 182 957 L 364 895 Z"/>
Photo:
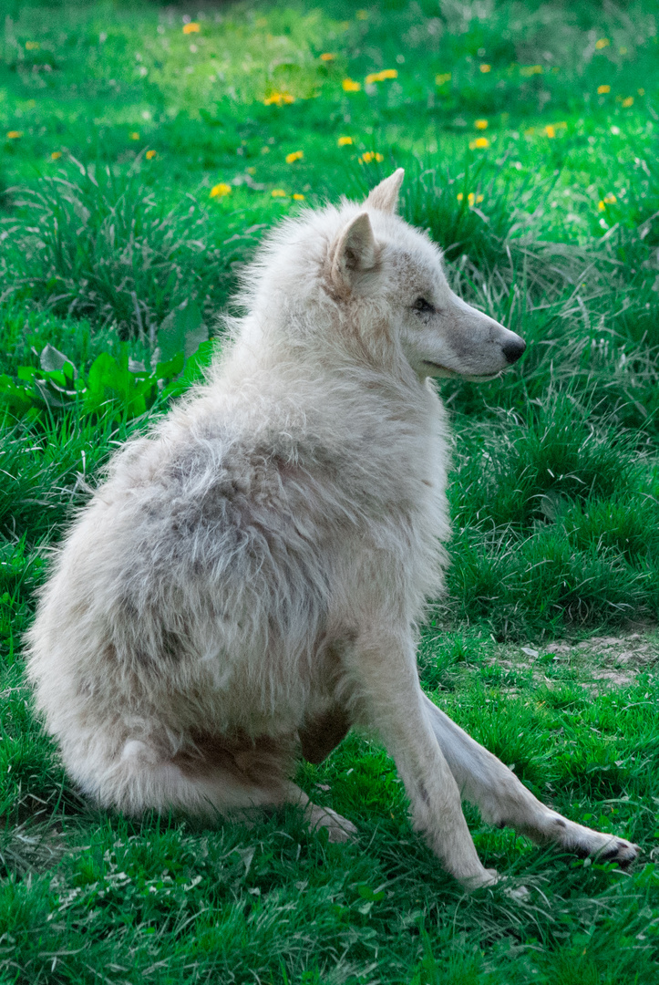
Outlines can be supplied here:
<path id="1" fill-rule="evenodd" d="M 73 162 L 77 164 L 77 162 Z M 14 291 L 59 315 L 154 338 L 165 316 L 195 301 L 213 320 L 235 287 L 255 230 L 231 235 L 192 196 L 164 208 L 137 171 L 71 168 L 26 189 L 7 263 Z"/>

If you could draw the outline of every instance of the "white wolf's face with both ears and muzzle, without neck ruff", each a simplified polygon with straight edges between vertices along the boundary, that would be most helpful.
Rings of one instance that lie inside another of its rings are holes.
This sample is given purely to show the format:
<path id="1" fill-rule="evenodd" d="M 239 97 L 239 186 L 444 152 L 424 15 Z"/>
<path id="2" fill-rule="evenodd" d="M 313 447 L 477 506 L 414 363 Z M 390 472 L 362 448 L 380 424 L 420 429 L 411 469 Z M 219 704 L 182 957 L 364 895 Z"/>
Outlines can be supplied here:
<path id="1" fill-rule="evenodd" d="M 362 209 L 353 207 L 330 245 L 331 286 L 339 303 L 360 297 L 367 303 L 373 294 L 386 299 L 389 329 L 419 376 L 490 379 L 526 345 L 455 295 L 440 251 L 396 215 L 403 175 L 398 168 L 373 188 Z"/>

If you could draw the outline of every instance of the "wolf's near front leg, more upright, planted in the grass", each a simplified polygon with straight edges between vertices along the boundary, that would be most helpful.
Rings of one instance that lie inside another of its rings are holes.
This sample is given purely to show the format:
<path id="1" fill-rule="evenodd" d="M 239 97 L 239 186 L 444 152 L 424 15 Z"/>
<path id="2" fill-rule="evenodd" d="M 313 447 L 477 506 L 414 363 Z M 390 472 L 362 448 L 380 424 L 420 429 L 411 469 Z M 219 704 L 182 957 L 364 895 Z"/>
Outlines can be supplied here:
<path id="1" fill-rule="evenodd" d="M 430 728 L 412 639 L 374 628 L 360 635 L 345 661 L 361 694 L 366 724 L 376 729 L 396 762 L 415 827 L 462 884 L 494 883 L 496 873 L 478 857 L 458 786 Z"/>

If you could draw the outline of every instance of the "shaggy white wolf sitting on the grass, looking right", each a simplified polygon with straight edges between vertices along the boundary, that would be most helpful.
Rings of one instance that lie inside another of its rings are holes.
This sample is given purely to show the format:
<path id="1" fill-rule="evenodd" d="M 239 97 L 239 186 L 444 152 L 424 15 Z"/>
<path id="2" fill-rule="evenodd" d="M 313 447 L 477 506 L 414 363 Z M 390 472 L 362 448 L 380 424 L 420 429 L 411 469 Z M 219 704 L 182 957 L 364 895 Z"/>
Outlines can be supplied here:
<path id="1" fill-rule="evenodd" d="M 351 725 L 393 756 L 448 872 L 494 881 L 461 796 L 541 843 L 627 863 L 561 818 L 428 700 L 415 625 L 441 588 L 447 431 L 428 377 L 490 379 L 524 342 L 449 289 L 396 215 L 362 205 L 276 230 L 207 381 L 129 441 L 59 553 L 30 633 L 36 704 L 101 805 L 209 819 L 302 805 L 291 781 Z"/>

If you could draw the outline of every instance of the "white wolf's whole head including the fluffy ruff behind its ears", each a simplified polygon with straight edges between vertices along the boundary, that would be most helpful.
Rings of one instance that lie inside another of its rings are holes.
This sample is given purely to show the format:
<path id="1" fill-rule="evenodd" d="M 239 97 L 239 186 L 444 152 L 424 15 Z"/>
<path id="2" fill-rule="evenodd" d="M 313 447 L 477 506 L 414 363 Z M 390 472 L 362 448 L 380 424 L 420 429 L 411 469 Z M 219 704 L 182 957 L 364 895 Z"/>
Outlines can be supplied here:
<path id="1" fill-rule="evenodd" d="M 333 351 L 421 379 L 491 379 L 519 359 L 523 340 L 455 295 L 440 250 L 396 214 L 403 173 L 362 205 L 304 210 L 266 237 L 238 298 L 254 352 L 274 332 L 299 360 L 322 350 L 327 364 Z"/>

